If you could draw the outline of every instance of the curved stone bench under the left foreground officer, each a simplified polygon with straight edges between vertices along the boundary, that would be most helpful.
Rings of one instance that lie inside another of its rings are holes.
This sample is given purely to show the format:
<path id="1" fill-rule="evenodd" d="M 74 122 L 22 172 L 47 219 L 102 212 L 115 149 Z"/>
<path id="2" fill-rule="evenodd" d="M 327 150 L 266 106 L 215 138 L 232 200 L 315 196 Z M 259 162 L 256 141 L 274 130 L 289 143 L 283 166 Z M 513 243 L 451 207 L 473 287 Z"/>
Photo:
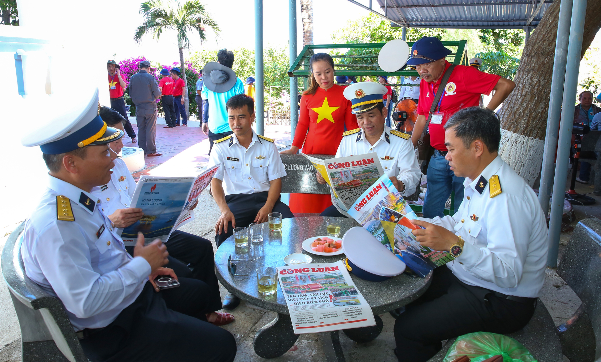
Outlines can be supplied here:
<path id="1" fill-rule="evenodd" d="M 10 234 L 1 258 L 2 276 L 19 318 L 23 362 L 87 362 L 63 303 L 25 275 L 23 225 Z"/>

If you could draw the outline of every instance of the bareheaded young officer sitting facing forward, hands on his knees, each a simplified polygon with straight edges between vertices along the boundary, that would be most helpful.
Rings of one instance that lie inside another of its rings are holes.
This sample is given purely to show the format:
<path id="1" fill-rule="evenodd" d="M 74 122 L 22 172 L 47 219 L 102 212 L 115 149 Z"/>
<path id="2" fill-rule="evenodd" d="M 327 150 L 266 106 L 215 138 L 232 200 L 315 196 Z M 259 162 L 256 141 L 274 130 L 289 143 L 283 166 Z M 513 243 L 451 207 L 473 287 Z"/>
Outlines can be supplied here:
<path id="1" fill-rule="evenodd" d="M 221 210 L 215 224 L 217 247 L 233 234 L 233 228 L 264 223 L 269 213 L 294 217 L 288 205 L 279 201 L 282 177 L 286 175 L 273 139 L 255 133 L 254 100 L 245 94 L 231 97 L 225 104 L 228 122 L 234 132 L 216 140 L 207 167 L 222 164 L 211 180 L 211 192 Z M 234 309 L 240 300 L 228 294 L 225 309 Z"/>

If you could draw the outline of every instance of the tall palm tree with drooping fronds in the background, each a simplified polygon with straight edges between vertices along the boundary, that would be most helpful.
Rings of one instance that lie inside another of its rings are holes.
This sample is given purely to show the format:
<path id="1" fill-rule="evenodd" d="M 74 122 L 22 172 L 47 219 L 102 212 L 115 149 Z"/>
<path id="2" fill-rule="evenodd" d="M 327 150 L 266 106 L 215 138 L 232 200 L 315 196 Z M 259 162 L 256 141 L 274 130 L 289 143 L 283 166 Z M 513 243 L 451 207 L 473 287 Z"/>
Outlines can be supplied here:
<path id="1" fill-rule="evenodd" d="M 221 29 L 211 18 L 211 14 L 204 9 L 204 5 L 199 0 L 148 0 L 140 5 L 140 14 L 145 17 L 142 25 L 138 26 L 133 40 L 136 43 L 142 42 L 145 34 L 152 34 L 153 38 L 159 41 L 160 34 L 165 30 L 175 30 L 177 32 L 177 47 L 180 50 L 180 69 L 186 86 L 186 71 L 184 64 L 183 49 L 190 46 L 189 33 L 197 31 L 201 42 L 206 40 L 205 29 L 208 26 L 215 34 Z M 190 115 L 188 91 L 185 92 L 186 113 Z"/>

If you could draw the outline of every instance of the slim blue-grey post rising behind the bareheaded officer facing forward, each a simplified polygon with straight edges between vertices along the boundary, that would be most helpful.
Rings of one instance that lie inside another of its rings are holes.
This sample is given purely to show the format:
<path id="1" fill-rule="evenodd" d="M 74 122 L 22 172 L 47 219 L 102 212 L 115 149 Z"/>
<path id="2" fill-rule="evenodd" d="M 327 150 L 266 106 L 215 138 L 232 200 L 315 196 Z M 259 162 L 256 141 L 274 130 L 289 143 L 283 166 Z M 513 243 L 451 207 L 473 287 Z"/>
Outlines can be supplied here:
<path id="1" fill-rule="evenodd" d="M 263 0 L 255 0 L 255 119 L 257 134 L 265 135 L 263 89 Z"/>

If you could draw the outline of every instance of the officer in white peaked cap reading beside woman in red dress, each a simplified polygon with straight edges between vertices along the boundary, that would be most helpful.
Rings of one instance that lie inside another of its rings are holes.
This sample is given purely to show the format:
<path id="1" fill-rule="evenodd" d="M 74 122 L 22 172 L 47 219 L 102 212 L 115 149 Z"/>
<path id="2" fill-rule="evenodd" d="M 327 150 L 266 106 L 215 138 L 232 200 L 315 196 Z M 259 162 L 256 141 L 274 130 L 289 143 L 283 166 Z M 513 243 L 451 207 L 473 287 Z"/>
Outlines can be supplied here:
<path id="1" fill-rule="evenodd" d="M 386 87 L 375 82 L 359 82 L 344 88 L 344 97 L 352 103 L 352 113 L 359 127 L 344 132 L 335 157 L 347 157 L 376 152 L 386 175 L 403 196 L 411 196 L 419 183 L 421 171 L 410 135 L 385 125 L 386 108 L 383 95 Z M 325 184 L 321 173 L 317 182 Z M 346 217 L 332 205 L 321 216 Z"/>

